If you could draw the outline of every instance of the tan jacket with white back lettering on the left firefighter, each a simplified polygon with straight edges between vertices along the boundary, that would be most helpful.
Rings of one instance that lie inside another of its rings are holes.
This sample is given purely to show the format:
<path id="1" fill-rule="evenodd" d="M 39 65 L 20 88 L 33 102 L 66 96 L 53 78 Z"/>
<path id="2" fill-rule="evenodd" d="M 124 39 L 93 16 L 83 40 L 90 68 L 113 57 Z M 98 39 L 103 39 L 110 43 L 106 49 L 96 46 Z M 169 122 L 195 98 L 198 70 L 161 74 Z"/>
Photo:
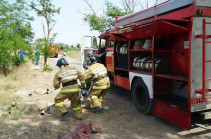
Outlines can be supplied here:
<path id="1" fill-rule="evenodd" d="M 74 93 L 80 91 L 80 86 L 77 83 L 77 79 L 80 80 L 81 84 L 84 85 L 84 76 L 80 70 L 75 67 L 61 67 L 56 73 L 53 81 L 55 89 L 60 88 L 62 84 L 61 93 Z"/>

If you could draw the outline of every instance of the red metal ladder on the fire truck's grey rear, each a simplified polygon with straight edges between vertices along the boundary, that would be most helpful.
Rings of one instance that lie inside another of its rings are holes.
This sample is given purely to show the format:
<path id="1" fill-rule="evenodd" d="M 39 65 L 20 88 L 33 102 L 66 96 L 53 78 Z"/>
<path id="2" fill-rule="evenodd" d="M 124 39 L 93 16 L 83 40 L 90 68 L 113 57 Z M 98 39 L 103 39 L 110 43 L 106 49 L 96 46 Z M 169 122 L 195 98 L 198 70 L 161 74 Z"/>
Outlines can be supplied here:
<path id="1" fill-rule="evenodd" d="M 207 92 L 211 92 L 211 89 L 206 88 L 206 82 L 211 81 L 211 78 L 206 78 L 206 63 L 211 62 L 211 60 L 206 60 L 206 44 L 211 43 L 211 41 L 207 41 L 206 39 L 211 38 L 211 35 L 206 35 L 206 25 L 210 24 L 211 22 L 206 22 L 203 19 L 203 33 L 202 35 L 196 35 L 196 38 L 202 38 L 203 41 L 203 48 L 202 48 L 202 90 L 196 91 L 196 93 L 202 94 L 203 99 L 209 99 L 211 97 L 206 97 Z"/>

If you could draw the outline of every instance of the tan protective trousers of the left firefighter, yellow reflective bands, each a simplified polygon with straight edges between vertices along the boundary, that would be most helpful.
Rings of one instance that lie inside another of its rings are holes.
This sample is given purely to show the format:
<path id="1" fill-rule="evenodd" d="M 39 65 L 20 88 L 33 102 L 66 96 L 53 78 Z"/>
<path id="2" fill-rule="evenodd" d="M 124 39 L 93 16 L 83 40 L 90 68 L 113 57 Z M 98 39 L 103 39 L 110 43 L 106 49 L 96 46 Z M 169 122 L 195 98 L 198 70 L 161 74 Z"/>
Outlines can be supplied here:
<path id="1" fill-rule="evenodd" d="M 59 115 L 67 112 L 67 109 L 64 105 L 64 100 L 69 99 L 71 101 L 71 106 L 76 118 L 82 118 L 81 103 L 79 99 L 79 92 L 75 93 L 59 93 L 54 99 L 55 106 Z"/>

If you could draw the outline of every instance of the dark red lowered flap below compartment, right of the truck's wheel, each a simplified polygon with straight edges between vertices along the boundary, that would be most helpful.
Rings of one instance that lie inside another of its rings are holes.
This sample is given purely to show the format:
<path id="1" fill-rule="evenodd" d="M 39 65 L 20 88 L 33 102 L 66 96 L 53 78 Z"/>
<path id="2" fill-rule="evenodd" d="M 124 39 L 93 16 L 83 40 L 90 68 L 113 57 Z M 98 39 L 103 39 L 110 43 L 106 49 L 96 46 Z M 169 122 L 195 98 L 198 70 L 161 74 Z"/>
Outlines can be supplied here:
<path id="1" fill-rule="evenodd" d="M 154 114 L 183 129 L 188 130 L 190 128 L 190 112 L 179 109 L 175 105 L 156 100 L 154 104 Z"/>

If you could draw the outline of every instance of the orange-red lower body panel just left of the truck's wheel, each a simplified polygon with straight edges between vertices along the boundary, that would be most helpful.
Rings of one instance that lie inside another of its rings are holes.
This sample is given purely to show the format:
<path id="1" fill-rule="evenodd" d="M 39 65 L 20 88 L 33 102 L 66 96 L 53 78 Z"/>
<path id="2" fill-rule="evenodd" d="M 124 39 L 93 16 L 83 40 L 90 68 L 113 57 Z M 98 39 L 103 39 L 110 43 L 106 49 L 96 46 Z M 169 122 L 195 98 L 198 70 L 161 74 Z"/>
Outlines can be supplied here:
<path id="1" fill-rule="evenodd" d="M 121 77 L 121 76 L 115 76 L 116 85 L 122 88 L 125 88 L 127 90 L 130 90 L 130 82 L 129 78 Z"/>

